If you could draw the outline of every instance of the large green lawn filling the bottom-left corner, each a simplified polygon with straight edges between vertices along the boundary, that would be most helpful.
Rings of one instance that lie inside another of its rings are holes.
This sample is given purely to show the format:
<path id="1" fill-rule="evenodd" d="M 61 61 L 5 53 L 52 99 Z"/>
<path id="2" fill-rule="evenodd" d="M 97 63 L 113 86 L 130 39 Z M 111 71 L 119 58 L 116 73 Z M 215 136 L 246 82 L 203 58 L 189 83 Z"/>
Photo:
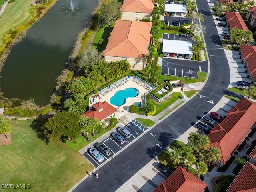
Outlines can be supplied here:
<path id="1" fill-rule="evenodd" d="M 30 184 L 18 191 L 68 191 L 92 171 L 92 165 L 65 143 L 45 144 L 30 128 L 30 121 L 8 120 L 11 144 L 0 146 L 2 184 Z M 5 190 L 13 191 L 13 189 Z"/>

